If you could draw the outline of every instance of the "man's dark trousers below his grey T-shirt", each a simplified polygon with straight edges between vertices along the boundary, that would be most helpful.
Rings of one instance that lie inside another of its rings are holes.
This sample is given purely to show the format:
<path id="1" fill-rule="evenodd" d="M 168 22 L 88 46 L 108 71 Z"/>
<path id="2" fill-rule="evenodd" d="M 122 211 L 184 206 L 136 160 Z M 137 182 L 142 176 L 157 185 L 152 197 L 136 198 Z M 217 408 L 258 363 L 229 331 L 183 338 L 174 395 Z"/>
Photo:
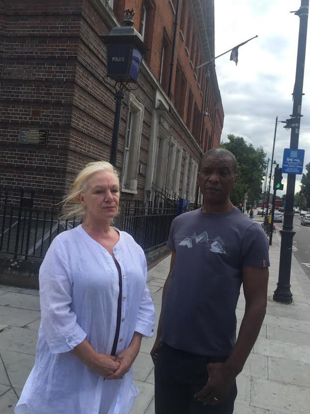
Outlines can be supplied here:
<path id="1" fill-rule="evenodd" d="M 203 405 L 194 398 L 208 381 L 207 364 L 225 360 L 194 355 L 162 343 L 155 362 L 155 414 L 232 414 L 236 383 L 217 405 Z"/>

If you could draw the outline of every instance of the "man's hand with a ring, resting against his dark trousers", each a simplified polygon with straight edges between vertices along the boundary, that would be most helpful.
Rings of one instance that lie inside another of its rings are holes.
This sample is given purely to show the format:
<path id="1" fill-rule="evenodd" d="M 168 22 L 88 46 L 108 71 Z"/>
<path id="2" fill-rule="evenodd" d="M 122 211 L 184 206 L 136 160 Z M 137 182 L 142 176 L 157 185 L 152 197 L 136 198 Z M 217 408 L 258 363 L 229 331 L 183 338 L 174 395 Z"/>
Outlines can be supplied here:
<path id="1" fill-rule="evenodd" d="M 201 391 L 194 395 L 203 404 L 218 404 L 229 393 L 236 375 L 225 364 L 216 363 L 207 366 L 209 380 Z"/>

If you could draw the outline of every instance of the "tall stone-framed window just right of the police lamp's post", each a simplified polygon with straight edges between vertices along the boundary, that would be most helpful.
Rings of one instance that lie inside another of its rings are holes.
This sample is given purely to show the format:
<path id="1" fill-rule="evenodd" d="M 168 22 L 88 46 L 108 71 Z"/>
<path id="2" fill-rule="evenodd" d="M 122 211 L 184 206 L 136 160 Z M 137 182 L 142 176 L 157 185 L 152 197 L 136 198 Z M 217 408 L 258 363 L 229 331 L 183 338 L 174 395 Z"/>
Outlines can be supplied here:
<path id="1" fill-rule="evenodd" d="M 123 153 L 122 191 L 136 192 L 144 106 L 132 95 Z"/>

